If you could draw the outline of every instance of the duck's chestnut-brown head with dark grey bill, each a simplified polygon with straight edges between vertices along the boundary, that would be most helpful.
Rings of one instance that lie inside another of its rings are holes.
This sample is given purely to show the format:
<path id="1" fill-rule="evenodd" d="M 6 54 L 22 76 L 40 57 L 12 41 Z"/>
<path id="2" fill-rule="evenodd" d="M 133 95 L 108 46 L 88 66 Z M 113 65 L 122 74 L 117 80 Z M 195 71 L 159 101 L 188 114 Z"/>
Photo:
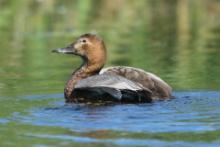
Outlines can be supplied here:
<path id="1" fill-rule="evenodd" d="M 103 66 L 106 61 L 106 48 L 103 40 L 95 34 L 84 34 L 65 48 L 58 48 L 52 52 L 78 55 L 87 64 Z"/>

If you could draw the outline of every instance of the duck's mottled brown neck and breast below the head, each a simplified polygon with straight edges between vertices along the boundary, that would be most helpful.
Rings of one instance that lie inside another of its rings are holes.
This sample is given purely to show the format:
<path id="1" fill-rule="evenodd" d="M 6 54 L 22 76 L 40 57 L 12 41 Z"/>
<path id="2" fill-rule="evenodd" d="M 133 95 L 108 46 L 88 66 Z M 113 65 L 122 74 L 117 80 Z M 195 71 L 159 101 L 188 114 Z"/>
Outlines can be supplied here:
<path id="1" fill-rule="evenodd" d="M 98 64 L 91 64 L 84 60 L 84 63 L 72 73 L 69 81 L 65 86 L 64 95 L 66 102 L 74 101 L 74 96 L 72 95 L 72 92 L 77 82 L 89 76 L 98 74 L 102 67 L 103 65 L 100 66 Z"/>

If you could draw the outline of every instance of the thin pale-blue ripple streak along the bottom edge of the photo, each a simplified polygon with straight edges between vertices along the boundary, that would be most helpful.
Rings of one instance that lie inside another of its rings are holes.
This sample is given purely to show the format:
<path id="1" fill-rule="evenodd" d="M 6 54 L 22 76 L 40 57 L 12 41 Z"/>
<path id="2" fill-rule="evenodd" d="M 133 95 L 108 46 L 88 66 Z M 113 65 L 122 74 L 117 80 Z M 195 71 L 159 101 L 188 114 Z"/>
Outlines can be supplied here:
<path id="1" fill-rule="evenodd" d="M 78 143 L 108 143 L 113 145 L 123 146 L 181 146 L 181 147 L 219 147 L 220 142 L 186 142 L 186 141 L 161 141 L 156 139 L 133 139 L 133 138 L 117 138 L 117 139 L 94 139 L 89 137 L 78 137 L 70 135 L 50 135 L 50 134 L 26 134 L 29 137 L 47 138 L 47 139 L 60 139 L 73 141 Z"/>

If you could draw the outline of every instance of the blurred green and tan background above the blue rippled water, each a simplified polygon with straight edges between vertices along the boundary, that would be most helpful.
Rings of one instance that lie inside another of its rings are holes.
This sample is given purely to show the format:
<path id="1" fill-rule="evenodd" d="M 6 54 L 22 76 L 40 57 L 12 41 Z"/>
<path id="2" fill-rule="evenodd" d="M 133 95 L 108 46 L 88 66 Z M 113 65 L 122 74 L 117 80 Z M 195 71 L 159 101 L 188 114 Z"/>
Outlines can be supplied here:
<path id="1" fill-rule="evenodd" d="M 0 93 L 62 90 L 78 58 L 50 50 L 95 31 L 107 65 L 156 73 L 174 89 L 220 88 L 218 0 L 0 0 Z"/>

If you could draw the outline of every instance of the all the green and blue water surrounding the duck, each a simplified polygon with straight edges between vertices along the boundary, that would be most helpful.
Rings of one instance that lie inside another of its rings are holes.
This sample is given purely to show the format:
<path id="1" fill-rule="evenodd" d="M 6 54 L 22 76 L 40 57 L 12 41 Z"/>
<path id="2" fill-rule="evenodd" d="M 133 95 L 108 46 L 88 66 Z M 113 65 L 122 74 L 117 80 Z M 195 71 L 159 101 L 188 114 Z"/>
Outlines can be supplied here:
<path id="1" fill-rule="evenodd" d="M 3 0 L 0 8 L 0 146 L 220 146 L 219 1 Z M 176 98 L 65 105 L 63 87 L 81 60 L 50 51 L 93 30 L 108 48 L 106 66 L 153 72 Z"/>

